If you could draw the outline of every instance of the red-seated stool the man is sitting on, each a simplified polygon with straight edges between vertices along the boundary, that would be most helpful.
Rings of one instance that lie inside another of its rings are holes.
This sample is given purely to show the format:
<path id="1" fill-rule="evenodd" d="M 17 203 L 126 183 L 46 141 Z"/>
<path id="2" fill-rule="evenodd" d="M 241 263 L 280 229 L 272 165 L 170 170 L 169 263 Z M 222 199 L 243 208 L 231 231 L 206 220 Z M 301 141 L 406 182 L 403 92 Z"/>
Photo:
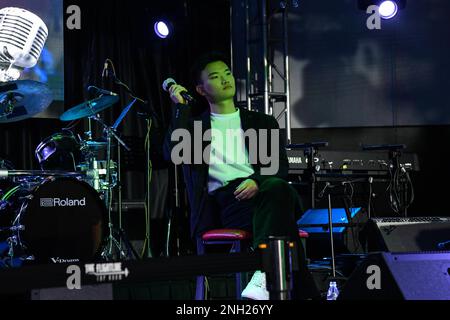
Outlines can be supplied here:
<path id="1" fill-rule="evenodd" d="M 205 254 L 205 246 L 207 245 L 231 245 L 230 253 L 239 253 L 246 249 L 245 241 L 250 240 L 252 234 L 250 232 L 239 229 L 216 229 L 211 230 L 202 235 L 197 240 L 197 254 Z M 236 298 L 241 299 L 242 292 L 242 275 L 236 273 Z M 197 276 L 197 288 L 195 291 L 195 300 L 205 299 L 205 276 Z"/>

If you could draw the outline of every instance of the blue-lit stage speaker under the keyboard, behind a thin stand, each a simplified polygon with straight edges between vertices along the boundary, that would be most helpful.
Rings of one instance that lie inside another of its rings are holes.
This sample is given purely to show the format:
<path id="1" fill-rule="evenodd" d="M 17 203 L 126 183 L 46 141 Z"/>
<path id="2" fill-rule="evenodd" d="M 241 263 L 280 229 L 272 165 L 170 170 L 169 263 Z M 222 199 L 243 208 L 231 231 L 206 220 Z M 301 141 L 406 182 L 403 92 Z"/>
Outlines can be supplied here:
<path id="1" fill-rule="evenodd" d="M 335 253 L 362 253 L 361 231 L 367 223 L 362 208 L 333 208 L 333 239 Z M 299 229 L 309 233 L 307 255 L 321 258 L 331 255 L 328 209 L 310 209 L 297 221 Z"/>

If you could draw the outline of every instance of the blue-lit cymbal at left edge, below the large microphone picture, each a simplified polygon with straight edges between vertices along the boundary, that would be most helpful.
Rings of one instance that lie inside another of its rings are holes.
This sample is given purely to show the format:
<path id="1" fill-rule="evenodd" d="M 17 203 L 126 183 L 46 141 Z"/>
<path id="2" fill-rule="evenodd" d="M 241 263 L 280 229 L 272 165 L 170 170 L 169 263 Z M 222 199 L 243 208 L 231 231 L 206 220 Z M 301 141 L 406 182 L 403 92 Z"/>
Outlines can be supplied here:
<path id="1" fill-rule="evenodd" d="M 0 83 L 0 123 L 29 119 L 50 106 L 53 94 L 41 82 L 18 80 Z"/>

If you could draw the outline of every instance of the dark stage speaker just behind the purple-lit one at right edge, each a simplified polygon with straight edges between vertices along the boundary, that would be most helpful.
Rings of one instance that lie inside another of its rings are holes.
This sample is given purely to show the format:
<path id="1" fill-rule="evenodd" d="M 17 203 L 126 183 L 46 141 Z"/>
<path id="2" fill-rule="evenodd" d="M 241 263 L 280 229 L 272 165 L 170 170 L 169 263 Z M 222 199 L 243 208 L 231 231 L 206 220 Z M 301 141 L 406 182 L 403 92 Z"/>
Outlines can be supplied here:
<path id="1" fill-rule="evenodd" d="M 450 218 L 376 218 L 367 224 L 368 249 L 414 252 L 450 249 Z"/>

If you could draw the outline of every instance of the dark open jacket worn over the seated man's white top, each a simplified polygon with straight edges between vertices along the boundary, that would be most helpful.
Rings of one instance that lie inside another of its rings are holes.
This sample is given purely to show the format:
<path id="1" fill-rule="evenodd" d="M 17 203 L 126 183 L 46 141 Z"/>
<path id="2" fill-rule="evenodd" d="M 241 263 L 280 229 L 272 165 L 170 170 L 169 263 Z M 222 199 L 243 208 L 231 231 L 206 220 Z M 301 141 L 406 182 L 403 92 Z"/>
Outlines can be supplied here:
<path id="1" fill-rule="evenodd" d="M 192 117 L 190 107 L 186 105 L 176 105 L 173 110 L 172 122 L 169 127 L 169 130 L 166 135 L 165 144 L 164 144 L 164 156 L 167 161 L 171 159 L 171 151 L 172 148 L 178 144 L 178 142 L 172 142 L 171 136 L 172 132 L 176 129 L 182 128 L 187 129 L 191 136 L 194 137 L 194 121 L 202 122 L 202 137 L 203 133 L 208 129 L 211 129 L 211 117 L 209 110 L 202 114 L 200 117 Z M 258 131 L 259 129 L 279 129 L 278 122 L 274 117 L 268 116 L 263 113 L 248 111 L 245 109 L 240 109 L 241 114 L 241 125 L 242 129 L 246 131 L 247 129 L 255 129 Z M 269 131 L 270 133 L 270 131 Z M 268 146 L 268 154 L 271 155 L 270 150 L 270 135 Z M 194 139 L 192 138 L 192 144 L 194 144 Z M 197 141 L 199 143 L 199 141 Z M 202 151 L 210 144 L 210 142 L 206 141 L 202 143 Z M 249 141 L 246 139 L 245 141 L 246 149 L 249 150 Z M 258 139 L 258 150 L 260 150 L 260 140 Z M 192 146 L 191 155 L 194 155 L 194 147 Z M 258 157 L 258 161 L 256 164 L 252 164 L 255 174 L 251 175 L 249 179 L 255 180 L 259 185 L 270 176 L 261 175 L 261 168 L 267 167 L 263 166 L 260 163 L 260 159 Z M 183 174 L 184 181 L 186 184 L 186 190 L 188 193 L 188 198 L 191 207 L 191 234 L 194 236 L 197 233 L 197 226 L 199 219 L 205 214 L 205 211 L 208 211 L 209 207 L 207 201 L 209 201 L 208 194 L 208 172 L 209 165 L 202 161 L 202 164 L 183 164 Z M 280 142 L 279 142 L 279 170 L 278 173 L 274 176 L 285 179 L 288 174 L 288 160 L 286 156 L 285 142 L 283 136 L 280 134 Z"/>

